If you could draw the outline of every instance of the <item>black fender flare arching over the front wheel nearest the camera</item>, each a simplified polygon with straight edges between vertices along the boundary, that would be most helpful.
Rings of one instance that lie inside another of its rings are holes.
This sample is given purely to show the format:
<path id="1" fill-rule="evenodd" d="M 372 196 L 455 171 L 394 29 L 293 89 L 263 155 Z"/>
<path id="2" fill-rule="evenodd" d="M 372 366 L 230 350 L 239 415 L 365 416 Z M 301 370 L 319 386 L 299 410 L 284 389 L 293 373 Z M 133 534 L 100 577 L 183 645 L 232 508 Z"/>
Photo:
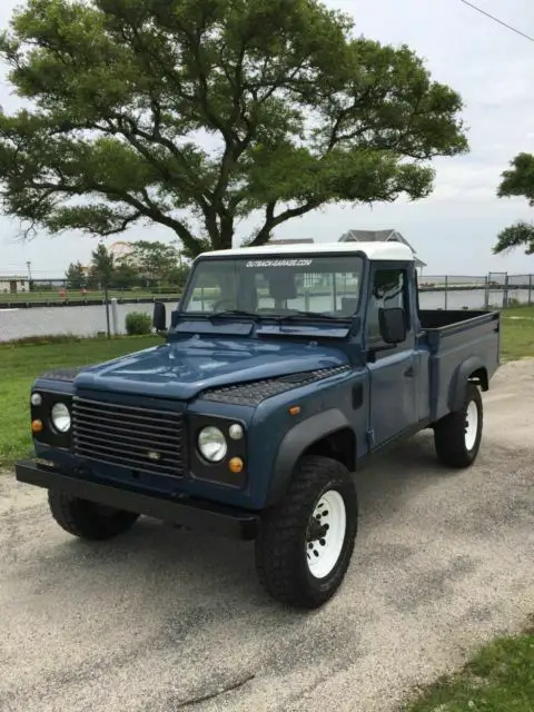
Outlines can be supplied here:
<path id="1" fill-rule="evenodd" d="M 284 496 L 303 453 L 317 441 L 345 427 L 350 425 L 342 411 L 329 408 L 301 421 L 288 431 L 278 448 L 266 506 L 276 504 Z"/>

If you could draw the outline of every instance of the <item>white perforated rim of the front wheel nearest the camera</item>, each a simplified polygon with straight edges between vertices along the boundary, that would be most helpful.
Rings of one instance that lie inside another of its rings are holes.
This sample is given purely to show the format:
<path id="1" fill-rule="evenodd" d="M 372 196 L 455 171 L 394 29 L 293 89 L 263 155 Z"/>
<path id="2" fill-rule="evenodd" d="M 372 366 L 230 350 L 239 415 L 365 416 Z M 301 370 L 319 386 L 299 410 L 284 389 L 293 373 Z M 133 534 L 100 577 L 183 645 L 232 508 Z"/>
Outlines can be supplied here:
<path id="1" fill-rule="evenodd" d="M 315 578 L 324 578 L 333 571 L 342 553 L 347 528 L 347 513 L 342 495 L 328 490 L 314 510 L 306 537 L 306 561 Z"/>

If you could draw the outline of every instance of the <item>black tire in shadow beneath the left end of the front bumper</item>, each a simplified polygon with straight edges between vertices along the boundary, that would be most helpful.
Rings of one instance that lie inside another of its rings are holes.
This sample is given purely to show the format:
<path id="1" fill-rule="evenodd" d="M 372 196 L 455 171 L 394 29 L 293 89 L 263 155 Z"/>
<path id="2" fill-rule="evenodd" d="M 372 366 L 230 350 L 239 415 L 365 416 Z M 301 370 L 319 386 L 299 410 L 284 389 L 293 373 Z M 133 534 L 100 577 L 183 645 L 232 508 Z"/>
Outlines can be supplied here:
<path id="1" fill-rule="evenodd" d="M 139 517 L 134 512 L 102 507 L 56 490 L 48 491 L 48 504 L 59 526 L 73 536 L 89 541 L 103 541 L 122 534 Z"/>

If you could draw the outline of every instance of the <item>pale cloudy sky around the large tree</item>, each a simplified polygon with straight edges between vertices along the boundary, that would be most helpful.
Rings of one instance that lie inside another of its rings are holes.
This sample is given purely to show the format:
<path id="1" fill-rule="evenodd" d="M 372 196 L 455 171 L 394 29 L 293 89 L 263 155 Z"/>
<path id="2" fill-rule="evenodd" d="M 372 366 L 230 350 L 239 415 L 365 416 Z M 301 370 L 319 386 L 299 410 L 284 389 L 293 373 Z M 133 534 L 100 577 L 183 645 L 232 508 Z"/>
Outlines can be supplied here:
<path id="1" fill-rule="evenodd" d="M 534 36 L 532 0 L 474 0 L 485 11 Z M 0 27 L 19 0 L 2 0 Z M 356 31 L 384 43 L 408 44 L 425 59 L 433 78 L 453 87 L 465 103 L 471 151 L 436 159 L 435 190 L 411 202 L 375 204 L 372 208 L 328 206 L 280 226 L 275 238 L 337 241 L 348 229 L 396 229 L 427 263 L 427 275 L 485 275 L 488 271 L 534 274 L 534 256 L 518 249 L 492 255 L 497 233 L 516 220 L 533 220 L 526 199 L 497 199 L 501 174 L 521 151 L 534 152 L 534 42 L 491 21 L 461 0 L 327 0 L 353 14 Z M 3 69 L 0 69 L 3 72 Z M 0 75 L 0 105 L 7 112 L 18 102 Z M 244 224 L 237 241 L 251 224 Z M 77 233 L 38 235 L 21 241 L 20 228 L 0 216 L 0 275 L 60 277 L 69 263 L 87 264 L 97 240 Z M 136 227 L 116 239 L 171 241 L 162 226 Z"/>

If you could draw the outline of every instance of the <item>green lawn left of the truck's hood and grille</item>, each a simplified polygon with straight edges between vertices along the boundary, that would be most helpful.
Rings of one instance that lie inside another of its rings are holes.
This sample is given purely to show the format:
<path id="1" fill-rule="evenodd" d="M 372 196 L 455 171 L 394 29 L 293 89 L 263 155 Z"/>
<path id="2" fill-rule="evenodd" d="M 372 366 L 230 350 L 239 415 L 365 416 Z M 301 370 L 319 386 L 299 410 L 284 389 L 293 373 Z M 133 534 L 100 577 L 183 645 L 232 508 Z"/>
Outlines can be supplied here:
<path id="1" fill-rule="evenodd" d="M 0 467 L 31 448 L 29 389 L 50 368 L 86 366 L 161 344 L 159 337 L 83 339 L 66 344 L 0 346 Z"/>

